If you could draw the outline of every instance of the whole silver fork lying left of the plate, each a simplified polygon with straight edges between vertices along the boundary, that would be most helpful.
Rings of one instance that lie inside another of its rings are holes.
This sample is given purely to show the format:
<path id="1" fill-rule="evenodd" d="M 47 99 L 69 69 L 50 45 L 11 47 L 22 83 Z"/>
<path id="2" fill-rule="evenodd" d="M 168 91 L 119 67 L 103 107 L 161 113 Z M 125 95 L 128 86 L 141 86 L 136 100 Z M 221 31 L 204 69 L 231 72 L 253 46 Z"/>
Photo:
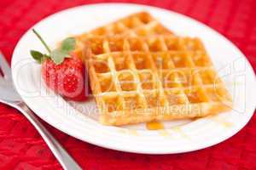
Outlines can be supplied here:
<path id="1" fill-rule="evenodd" d="M 0 52 L 0 70 L 3 72 L 3 77 L 0 74 L 0 102 L 6 105 L 10 105 L 19 110 L 29 122 L 38 130 L 38 133 L 42 136 L 49 149 L 55 155 L 56 159 L 61 163 L 61 166 L 66 170 L 82 169 L 68 155 L 67 151 L 61 146 L 61 144 L 49 133 L 49 131 L 39 122 L 35 114 L 28 108 L 28 106 L 22 101 L 20 95 L 15 90 L 13 85 L 11 70 L 9 64 L 4 59 L 3 54 Z"/>

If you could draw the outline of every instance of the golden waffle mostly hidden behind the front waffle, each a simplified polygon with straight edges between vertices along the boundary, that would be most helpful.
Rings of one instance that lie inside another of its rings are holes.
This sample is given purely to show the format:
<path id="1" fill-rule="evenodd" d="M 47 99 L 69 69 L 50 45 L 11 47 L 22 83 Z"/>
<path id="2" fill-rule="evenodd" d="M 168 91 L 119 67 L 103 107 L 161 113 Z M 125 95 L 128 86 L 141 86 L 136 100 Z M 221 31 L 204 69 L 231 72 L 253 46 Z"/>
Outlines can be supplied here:
<path id="1" fill-rule="evenodd" d="M 152 35 L 171 34 L 172 31 L 169 31 L 165 26 L 162 26 L 158 20 L 153 18 L 153 16 L 147 12 L 139 12 L 77 36 L 76 54 L 79 54 L 80 57 L 82 56 L 84 40 L 88 37 L 112 37 L 116 35 L 147 37 Z"/>

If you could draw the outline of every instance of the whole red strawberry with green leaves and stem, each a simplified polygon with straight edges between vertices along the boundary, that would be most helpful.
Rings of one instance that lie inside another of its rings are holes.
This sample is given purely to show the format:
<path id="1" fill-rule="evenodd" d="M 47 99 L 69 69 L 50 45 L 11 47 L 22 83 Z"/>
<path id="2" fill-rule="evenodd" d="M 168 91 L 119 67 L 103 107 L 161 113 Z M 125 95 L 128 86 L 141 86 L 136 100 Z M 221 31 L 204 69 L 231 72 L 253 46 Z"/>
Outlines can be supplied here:
<path id="1" fill-rule="evenodd" d="M 46 85 L 67 99 L 86 99 L 83 62 L 73 53 L 75 38 L 68 37 L 60 48 L 50 50 L 37 31 L 32 30 L 49 54 L 31 50 L 32 57 L 42 63 L 42 77 Z"/>

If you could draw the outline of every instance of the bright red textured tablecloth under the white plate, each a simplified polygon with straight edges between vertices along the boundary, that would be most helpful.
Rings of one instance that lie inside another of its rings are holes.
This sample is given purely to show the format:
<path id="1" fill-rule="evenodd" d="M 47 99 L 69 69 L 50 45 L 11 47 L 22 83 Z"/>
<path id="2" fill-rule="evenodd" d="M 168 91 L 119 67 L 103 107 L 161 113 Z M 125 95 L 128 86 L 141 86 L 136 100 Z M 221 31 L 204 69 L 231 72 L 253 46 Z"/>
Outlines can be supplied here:
<path id="1" fill-rule="evenodd" d="M 1 0 L 0 50 L 11 59 L 16 42 L 38 20 L 61 9 L 101 0 Z M 128 1 L 123 1 L 128 2 Z M 131 0 L 189 15 L 234 42 L 256 69 L 256 1 Z M 174 23 L 175 24 L 175 23 Z M 47 127 L 46 123 L 44 123 Z M 86 169 L 256 169 L 256 116 L 234 137 L 186 154 L 148 156 L 103 149 L 49 127 Z M 0 169 L 61 169 L 44 140 L 15 109 L 0 104 Z"/>

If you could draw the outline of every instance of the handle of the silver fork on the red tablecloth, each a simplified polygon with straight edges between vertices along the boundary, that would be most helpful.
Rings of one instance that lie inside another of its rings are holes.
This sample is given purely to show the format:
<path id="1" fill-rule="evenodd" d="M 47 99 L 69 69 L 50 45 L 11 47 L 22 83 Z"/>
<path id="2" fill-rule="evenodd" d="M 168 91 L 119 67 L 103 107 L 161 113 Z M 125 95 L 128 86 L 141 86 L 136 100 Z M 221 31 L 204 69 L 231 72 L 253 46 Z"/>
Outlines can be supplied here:
<path id="1" fill-rule="evenodd" d="M 61 163 L 61 166 L 65 170 L 81 170 L 78 163 L 73 160 L 71 156 L 68 155 L 67 151 L 61 146 L 61 144 L 49 133 L 49 131 L 44 127 L 44 125 L 38 121 L 35 114 L 28 108 L 24 102 L 20 102 L 14 105 L 15 108 L 21 111 L 24 116 L 32 123 L 34 127 L 38 130 L 38 133 L 42 136 L 46 144 L 48 144 L 49 149 L 55 155 L 56 159 Z"/>

